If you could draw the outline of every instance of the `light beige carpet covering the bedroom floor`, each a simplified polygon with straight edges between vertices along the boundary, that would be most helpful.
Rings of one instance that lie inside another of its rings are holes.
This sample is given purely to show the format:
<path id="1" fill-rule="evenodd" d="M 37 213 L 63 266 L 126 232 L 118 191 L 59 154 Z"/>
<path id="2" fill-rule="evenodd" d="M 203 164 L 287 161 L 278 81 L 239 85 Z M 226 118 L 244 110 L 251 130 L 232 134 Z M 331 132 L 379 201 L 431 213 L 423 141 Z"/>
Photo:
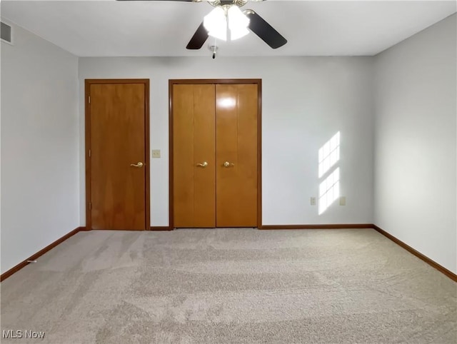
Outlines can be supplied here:
<path id="1" fill-rule="evenodd" d="M 1 343 L 457 343 L 457 283 L 371 229 L 80 232 L 1 283 Z"/>

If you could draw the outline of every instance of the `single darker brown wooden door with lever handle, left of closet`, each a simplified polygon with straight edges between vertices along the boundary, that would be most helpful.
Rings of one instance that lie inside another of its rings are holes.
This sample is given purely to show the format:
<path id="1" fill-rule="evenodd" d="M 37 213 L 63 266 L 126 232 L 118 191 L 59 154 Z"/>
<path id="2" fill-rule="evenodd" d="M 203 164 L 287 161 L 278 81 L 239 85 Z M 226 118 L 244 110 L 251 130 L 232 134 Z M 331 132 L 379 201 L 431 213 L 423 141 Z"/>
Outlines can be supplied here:
<path id="1" fill-rule="evenodd" d="M 89 86 L 89 216 L 93 229 L 146 229 L 145 83 Z M 149 132 L 149 131 L 147 131 Z M 86 141 L 87 142 L 87 141 Z M 149 187 L 149 186 L 148 186 Z"/>

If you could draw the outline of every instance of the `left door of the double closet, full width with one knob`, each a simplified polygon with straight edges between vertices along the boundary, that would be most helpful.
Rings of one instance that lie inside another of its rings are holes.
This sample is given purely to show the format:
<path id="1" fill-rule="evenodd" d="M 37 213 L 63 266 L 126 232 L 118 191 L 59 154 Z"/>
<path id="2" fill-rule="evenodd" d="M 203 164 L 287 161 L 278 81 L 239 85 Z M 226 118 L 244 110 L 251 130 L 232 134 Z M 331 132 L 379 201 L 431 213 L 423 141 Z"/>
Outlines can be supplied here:
<path id="1" fill-rule="evenodd" d="M 173 87 L 174 227 L 214 228 L 215 86 Z"/>

